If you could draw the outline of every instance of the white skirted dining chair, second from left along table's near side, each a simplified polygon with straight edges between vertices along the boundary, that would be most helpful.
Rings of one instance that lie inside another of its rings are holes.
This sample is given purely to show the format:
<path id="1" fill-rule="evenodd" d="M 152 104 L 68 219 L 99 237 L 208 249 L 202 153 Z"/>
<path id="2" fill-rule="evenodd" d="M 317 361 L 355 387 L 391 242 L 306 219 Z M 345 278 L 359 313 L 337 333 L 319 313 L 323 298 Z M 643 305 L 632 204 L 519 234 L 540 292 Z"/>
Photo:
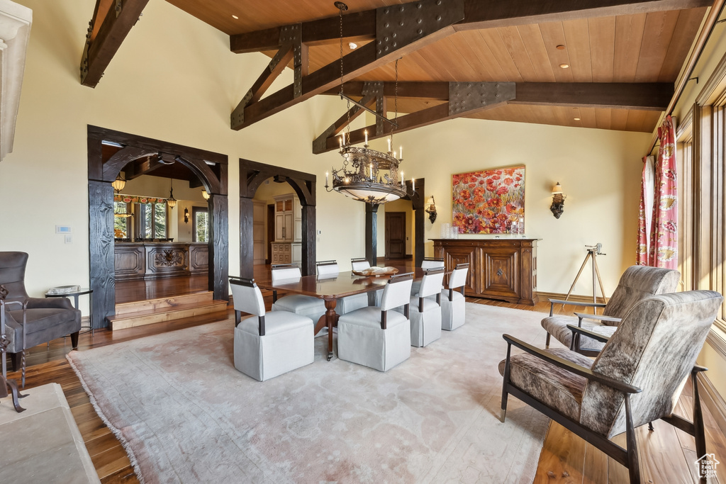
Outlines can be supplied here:
<path id="1" fill-rule="evenodd" d="M 387 372 L 411 356 L 409 294 L 412 273 L 388 279 L 380 306 L 366 306 L 338 319 L 338 358 Z M 404 313 L 391 311 L 405 306 Z"/>

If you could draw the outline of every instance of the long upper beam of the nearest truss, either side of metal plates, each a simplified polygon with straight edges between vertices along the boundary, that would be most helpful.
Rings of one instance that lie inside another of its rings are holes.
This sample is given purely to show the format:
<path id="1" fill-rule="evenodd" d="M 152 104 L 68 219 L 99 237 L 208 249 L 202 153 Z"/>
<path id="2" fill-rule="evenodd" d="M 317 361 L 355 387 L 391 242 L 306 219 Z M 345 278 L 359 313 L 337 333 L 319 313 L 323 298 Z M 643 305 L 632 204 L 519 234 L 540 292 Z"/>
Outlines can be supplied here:
<path id="1" fill-rule="evenodd" d="M 415 6 L 418 1 L 404 6 Z M 464 0 L 464 17 L 454 30 L 477 30 L 542 22 L 560 22 L 592 17 L 611 17 L 648 12 L 711 7 L 713 0 Z M 399 7 L 399 6 L 395 6 Z M 380 7 L 343 15 L 343 38 L 346 41 L 370 40 L 376 36 Z M 303 44 L 330 44 L 340 41 L 340 18 L 326 17 L 301 22 Z M 229 36 L 232 52 L 261 52 L 280 48 L 282 26 Z"/>

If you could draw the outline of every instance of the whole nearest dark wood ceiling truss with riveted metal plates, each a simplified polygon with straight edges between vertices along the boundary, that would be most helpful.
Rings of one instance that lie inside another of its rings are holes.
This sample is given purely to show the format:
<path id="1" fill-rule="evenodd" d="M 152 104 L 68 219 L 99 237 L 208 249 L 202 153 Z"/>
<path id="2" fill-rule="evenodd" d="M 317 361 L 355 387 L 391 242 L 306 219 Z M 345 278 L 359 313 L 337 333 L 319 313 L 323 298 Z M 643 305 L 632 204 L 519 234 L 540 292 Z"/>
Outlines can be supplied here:
<path id="1" fill-rule="evenodd" d="M 587 2 L 582 0 L 420 0 L 396 6 L 380 7 L 343 15 L 344 38 L 348 40 L 372 39 L 373 41 L 343 57 L 342 81 L 350 81 L 363 73 L 449 36 L 457 30 L 690 9 L 710 5 L 711 0 L 592 0 Z M 240 130 L 316 94 L 335 89 L 341 81 L 340 62 L 331 62 L 314 73 L 307 73 L 306 59 L 306 46 L 332 41 L 340 41 L 340 17 L 327 17 L 230 36 L 229 45 L 232 52 L 259 52 L 277 49 L 277 54 L 270 62 L 268 69 L 258 78 L 232 112 L 230 120 L 232 129 Z M 290 50 L 293 52 L 295 67 L 293 84 L 263 98 L 266 89 L 289 62 Z M 560 97 L 567 97 L 567 89 L 558 89 Z M 522 94 L 527 93 L 529 91 Z M 571 92 L 569 94 L 571 94 L 570 98 L 575 97 Z M 446 89 L 446 95 L 448 95 L 448 89 Z M 531 104 L 539 104 L 539 102 Z M 584 105 L 576 102 L 576 99 L 566 104 Z M 634 105 L 637 106 L 637 103 Z M 434 110 L 432 107 L 430 115 L 420 118 L 419 121 L 425 123 L 432 115 L 444 114 L 441 109 L 439 107 L 439 110 Z M 436 114 L 434 114 L 435 112 Z M 404 124 L 410 120 L 412 118 L 404 121 Z M 335 132 L 337 133 L 339 130 L 338 126 Z"/>

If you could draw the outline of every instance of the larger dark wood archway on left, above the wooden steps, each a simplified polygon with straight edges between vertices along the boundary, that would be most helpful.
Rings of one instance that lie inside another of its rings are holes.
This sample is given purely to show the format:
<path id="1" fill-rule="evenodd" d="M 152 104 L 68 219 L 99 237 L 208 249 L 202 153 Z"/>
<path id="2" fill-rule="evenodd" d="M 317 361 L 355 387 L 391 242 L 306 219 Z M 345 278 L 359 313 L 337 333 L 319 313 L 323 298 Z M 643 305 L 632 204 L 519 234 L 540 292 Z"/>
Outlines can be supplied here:
<path id="1" fill-rule="evenodd" d="M 122 146 L 105 162 L 102 157 L 104 141 Z M 214 292 L 214 299 L 229 300 L 227 155 L 89 125 L 89 280 L 94 295 L 91 311 L 96 327 L 106 327 L 107 316 L 115 314 L 111 183 L 129 162 L 160 152 L 173 156 L 189 168 L 210 194 L 209 290 Z"/>

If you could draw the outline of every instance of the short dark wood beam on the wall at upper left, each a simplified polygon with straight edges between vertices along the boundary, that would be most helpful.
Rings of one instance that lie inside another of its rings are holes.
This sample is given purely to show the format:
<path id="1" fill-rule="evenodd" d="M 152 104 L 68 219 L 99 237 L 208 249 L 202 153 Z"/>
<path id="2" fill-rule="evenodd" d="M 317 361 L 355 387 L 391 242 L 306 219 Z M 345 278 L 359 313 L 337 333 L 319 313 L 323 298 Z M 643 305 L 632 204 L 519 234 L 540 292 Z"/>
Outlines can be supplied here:
<path id="1" fill-rule="evenodd" d="M 83 86 L 97 86 L 106 67 L 139 20 L 149 0 L 114 0 L 107 12 L 103 11 L 102 3 L 97 4 L 86 34 L 86 46 L 81 57 Z M 99 22 L 101 26 L 97 28 Z"/>

